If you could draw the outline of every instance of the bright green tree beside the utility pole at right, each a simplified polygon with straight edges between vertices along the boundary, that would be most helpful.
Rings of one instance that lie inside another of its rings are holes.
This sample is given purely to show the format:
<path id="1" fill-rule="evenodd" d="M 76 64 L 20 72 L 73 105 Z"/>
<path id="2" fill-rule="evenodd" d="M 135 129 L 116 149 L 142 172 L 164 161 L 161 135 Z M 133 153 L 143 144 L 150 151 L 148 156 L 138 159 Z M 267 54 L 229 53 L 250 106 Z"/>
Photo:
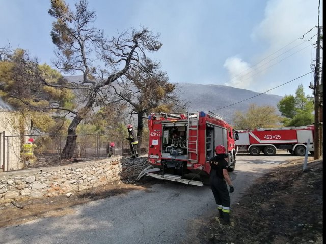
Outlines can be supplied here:
<path id="1" fill-rule="evenodd" d="M 302 84 L 296 89 L 295 96 L 285 95 L 277 107 L 284 116 L 284 126 L 306 126 L 313 123 L 313 100 L 308 95 L 305 96 Z"/>

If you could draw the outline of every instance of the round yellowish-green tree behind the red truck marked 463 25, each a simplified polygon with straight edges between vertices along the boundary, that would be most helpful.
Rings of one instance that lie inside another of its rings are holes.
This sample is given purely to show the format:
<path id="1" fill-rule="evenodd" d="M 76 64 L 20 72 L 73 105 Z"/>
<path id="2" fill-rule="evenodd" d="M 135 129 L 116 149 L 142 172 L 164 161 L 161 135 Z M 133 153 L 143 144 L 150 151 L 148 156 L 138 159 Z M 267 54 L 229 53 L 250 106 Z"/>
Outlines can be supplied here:
<path id="1" fill-rule="evenodd" d="M 237 130 L 273 128 L 280 122 L 276 108 L 270 105 L 257 106 L 250 104 L 246 113 L 235 111 L 233 115 L 234 128 Z"/>

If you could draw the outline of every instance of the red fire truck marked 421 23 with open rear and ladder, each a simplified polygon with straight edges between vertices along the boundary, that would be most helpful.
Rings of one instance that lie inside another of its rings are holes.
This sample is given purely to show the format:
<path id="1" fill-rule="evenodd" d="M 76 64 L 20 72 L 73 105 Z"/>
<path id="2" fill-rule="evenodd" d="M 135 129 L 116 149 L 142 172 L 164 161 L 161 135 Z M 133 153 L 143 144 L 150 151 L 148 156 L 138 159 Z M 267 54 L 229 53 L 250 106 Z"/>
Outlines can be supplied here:
<path id="1" fill-rule="evenodd" d="M 148 176 L 203 186 L 220 144 L 227 148 L 229 170 L 235 168 L 235 130 L 212 112 L 151 114 L 148 128 Z"/>

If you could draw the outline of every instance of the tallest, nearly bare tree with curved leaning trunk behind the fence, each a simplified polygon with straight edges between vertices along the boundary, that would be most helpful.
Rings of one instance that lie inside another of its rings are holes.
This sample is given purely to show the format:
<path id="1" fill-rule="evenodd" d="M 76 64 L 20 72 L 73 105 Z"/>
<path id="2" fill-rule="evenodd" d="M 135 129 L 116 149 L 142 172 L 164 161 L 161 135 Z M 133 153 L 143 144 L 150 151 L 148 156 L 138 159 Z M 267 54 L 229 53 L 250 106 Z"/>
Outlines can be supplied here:
<path id="1" fill-rule="evenodd" d="M 111 83 L 126 76 L 130 67 L 144 60 L 146 52 L 157 51 L 162 45 L 159 35 L 153 35 L 147 28 L 130 29 L 107 40 L 103 31 L 91 26 L 96 16 L 95 11 L 87 9 L 87 1 L 80 0 L 75 7 L 73 12 L 63 0 L 51 0 L 49 10 L 56 18 L 51 31 L 52 41 L 58 48 L 56 67 L 64 72 L 81 72 L 83 80 L 71 88 L 85 91 L 85 105 L 71 111 L 74 118 L 68 127 L 62 158 L 72 157 L 77 126 L 93 106 L 110 96 Z M 104 68 L 92 65 L 103 63 Z"/>

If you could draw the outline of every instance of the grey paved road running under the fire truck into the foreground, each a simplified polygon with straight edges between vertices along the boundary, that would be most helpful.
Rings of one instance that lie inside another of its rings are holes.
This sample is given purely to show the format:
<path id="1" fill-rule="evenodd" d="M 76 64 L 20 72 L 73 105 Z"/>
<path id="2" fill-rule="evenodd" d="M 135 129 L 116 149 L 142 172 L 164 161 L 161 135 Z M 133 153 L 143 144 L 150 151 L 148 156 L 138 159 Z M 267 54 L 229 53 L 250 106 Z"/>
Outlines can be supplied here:
<path id="1" fill-rule="evenodd" d="M 296 158 L 238 155 L 230 174 L 235 187 L 231 202 L 237 203 L 255 178 Z M 191 243 L 189 233 L 215 213 L 209 186 L 157 180 L 146 190 L 76 206 L 71 215 L 1 228 L 0 243 Z"/>

